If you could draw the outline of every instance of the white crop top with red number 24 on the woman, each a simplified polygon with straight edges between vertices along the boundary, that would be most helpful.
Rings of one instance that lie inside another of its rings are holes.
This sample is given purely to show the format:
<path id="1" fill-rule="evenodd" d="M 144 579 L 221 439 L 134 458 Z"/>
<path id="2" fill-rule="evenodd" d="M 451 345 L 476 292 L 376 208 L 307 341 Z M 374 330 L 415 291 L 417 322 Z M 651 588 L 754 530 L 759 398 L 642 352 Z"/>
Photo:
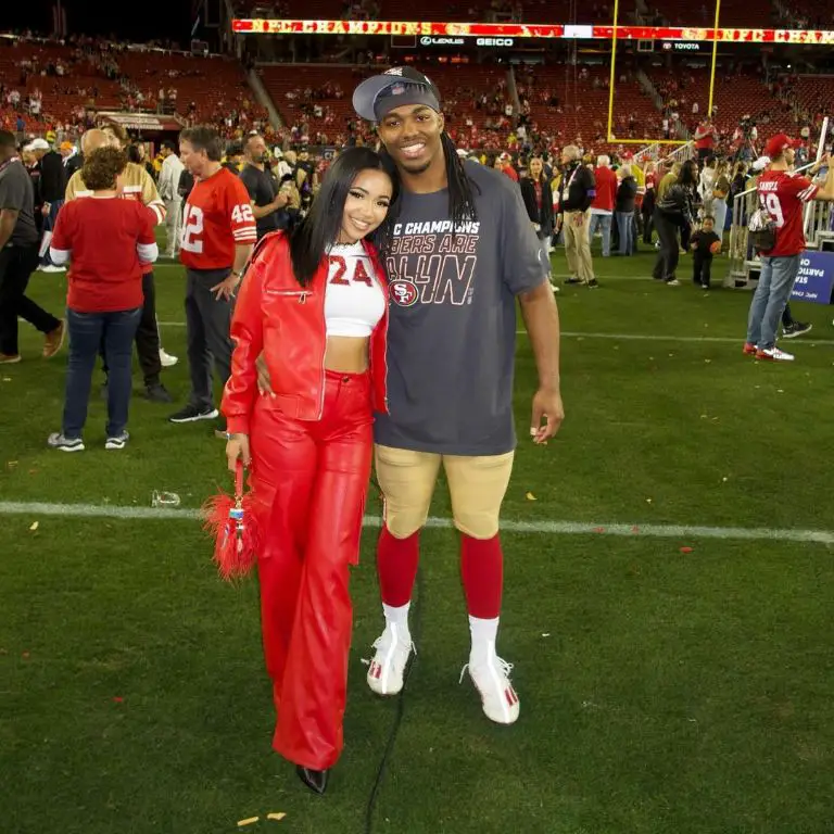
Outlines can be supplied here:
<path id="1" fill-rule="evenodd" d="M 362 241 L 332 245 L 328 261 L 327 334 L 369 337 L 386 312 L 386 296 Z"/>

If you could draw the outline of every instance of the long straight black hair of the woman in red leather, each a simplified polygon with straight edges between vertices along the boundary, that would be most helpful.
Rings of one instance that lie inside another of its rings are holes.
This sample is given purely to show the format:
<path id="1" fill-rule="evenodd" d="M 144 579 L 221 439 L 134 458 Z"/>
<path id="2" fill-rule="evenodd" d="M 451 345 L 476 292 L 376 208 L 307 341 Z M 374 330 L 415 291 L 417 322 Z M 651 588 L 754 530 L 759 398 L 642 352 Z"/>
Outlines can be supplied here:
<path id="1" fill-rule="evenodd" d="M 302 287 L 313 280 L 328 247 L 339 239 L 344 202 L 356 177 L 368 169 L 388 174 L 393 189 L 391 202 L 396 199 L 399 177 L 380 154 L 363 147 L 343 150 L 325 174 L 309 213 L 290 230 L 292 271 Z"/>

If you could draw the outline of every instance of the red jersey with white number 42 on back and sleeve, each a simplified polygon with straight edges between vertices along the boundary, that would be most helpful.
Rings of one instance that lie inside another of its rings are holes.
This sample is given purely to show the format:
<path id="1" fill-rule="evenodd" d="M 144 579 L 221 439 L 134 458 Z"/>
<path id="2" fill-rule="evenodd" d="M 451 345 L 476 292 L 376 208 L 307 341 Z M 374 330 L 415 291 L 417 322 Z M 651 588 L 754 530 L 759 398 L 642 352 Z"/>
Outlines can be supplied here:
<path id="1" fill-rule="evenodd" d="M 228 269 L 235 247 L 257 240 L 247 187 L 228 168 L 191 189 L 182 214 L 180 257 L 190 269 Z"/>

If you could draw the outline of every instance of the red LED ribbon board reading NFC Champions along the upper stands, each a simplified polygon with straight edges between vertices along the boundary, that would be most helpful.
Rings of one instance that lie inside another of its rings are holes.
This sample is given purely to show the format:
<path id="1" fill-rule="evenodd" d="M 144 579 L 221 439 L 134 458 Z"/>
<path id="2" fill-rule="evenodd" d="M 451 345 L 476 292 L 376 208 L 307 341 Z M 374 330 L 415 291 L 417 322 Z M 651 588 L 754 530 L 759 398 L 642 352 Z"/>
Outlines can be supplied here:
<path id="1" fill-rule="evenodd" d="M 713 29 L 692 26 L 592 26 L 535 23 L 431 23 L 428 21 L 295 21 L 236 18 L 241 35 L 414 35 L 452 38 L 568 38 L 587 40 L 683 40 L 723 43 L 834 45 L 829 29 Z"/>

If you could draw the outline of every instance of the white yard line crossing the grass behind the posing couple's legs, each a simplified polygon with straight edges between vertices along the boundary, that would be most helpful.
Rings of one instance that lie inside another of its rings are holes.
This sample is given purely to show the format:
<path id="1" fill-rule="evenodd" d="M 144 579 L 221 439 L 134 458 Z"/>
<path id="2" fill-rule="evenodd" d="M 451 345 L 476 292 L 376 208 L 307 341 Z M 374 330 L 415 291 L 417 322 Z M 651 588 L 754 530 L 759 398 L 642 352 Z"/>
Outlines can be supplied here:
<path id="1" fill-rule="evenodd" d="M 63 516 L 64 518 L 117 518 L 189 520 L 201 517 L 199 509 L 157 507 L 124 507 L 100 504 L 47 504 L 41 502 L 0 501 L 0 516 Z M 365 516 L 364 527 L 378 528 L 378 516 Z M 431 517 L 427 527 L 450 528 L 452 519 Z M 652 536 L 657 539 L 740 539 L 744 541 L 813 542 L 834 544 L 834 531 L 779 530 L 767 527 L 702 527 L 687 525 L 621 525 L 591 523 L 586 521 L 509 521 L 502 520 L 501 529 L 511 533 L 549 533 L 552 535 L 618 535 L 624 538 Z"/>

